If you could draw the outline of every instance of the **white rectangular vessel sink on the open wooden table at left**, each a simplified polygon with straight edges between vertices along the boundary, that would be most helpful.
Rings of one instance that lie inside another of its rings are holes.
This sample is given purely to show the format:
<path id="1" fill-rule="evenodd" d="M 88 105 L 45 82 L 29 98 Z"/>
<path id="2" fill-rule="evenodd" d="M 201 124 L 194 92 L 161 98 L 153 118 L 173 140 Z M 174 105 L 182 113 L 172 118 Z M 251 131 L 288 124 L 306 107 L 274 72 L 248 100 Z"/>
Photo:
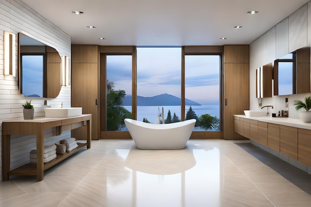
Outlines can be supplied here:
<path id="1" fill-rule="evenodd" d="M 82 115 L 82 107 L 45 108 L 45 117 L 74 117 Z"/>

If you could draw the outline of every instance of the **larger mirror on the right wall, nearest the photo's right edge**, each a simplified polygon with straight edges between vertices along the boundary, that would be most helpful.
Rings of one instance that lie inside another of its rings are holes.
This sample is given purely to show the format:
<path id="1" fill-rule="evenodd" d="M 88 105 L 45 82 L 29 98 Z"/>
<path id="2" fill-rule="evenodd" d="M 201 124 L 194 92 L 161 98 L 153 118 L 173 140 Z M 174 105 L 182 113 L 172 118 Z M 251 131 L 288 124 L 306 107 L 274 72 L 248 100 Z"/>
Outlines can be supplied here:
<path id="1" fill-rule="evenodd" d="M 310 46 L 274 61 L 274 95 L 311 92 Z"/>

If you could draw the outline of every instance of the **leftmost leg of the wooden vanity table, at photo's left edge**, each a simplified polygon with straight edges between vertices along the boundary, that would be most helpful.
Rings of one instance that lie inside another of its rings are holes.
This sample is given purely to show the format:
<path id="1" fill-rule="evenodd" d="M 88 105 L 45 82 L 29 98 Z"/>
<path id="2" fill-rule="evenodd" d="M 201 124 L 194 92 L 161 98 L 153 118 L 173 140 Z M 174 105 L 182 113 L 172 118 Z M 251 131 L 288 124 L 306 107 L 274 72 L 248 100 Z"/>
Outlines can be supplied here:
<path id="1" fill-rule="evenodd" d="M 2 180 L 9 180 L 11 136 L 2 136 Z"/>

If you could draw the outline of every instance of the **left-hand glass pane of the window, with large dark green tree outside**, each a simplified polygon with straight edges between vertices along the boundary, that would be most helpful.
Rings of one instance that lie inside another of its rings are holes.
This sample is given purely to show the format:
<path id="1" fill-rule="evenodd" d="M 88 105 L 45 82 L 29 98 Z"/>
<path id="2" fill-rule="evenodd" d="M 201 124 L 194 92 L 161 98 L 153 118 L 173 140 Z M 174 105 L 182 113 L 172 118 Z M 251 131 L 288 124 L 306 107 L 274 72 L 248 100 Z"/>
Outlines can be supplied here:
<path id="1" fill-rule="evenodd" d="M 107 131 L 126 131 L 125 118 L 132 118 L 132 56 L 107 55 L 106 58 Z"/>

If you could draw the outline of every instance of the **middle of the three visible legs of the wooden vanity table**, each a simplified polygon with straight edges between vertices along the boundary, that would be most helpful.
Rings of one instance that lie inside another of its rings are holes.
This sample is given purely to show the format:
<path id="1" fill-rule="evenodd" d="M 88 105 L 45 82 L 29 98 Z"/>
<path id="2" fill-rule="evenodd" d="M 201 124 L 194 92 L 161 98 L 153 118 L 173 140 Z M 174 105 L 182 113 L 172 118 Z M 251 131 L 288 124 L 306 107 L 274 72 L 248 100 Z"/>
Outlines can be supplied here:
<path id="1" fill-rule="evenodd" d="M 39 127 L 40 126 L 40 127 Z M 37 140 L 37 181 L 43 180 L 44 177 L 44 134 L 43 125 L 38 125 L 38 133 L 36 134 Z"/>

